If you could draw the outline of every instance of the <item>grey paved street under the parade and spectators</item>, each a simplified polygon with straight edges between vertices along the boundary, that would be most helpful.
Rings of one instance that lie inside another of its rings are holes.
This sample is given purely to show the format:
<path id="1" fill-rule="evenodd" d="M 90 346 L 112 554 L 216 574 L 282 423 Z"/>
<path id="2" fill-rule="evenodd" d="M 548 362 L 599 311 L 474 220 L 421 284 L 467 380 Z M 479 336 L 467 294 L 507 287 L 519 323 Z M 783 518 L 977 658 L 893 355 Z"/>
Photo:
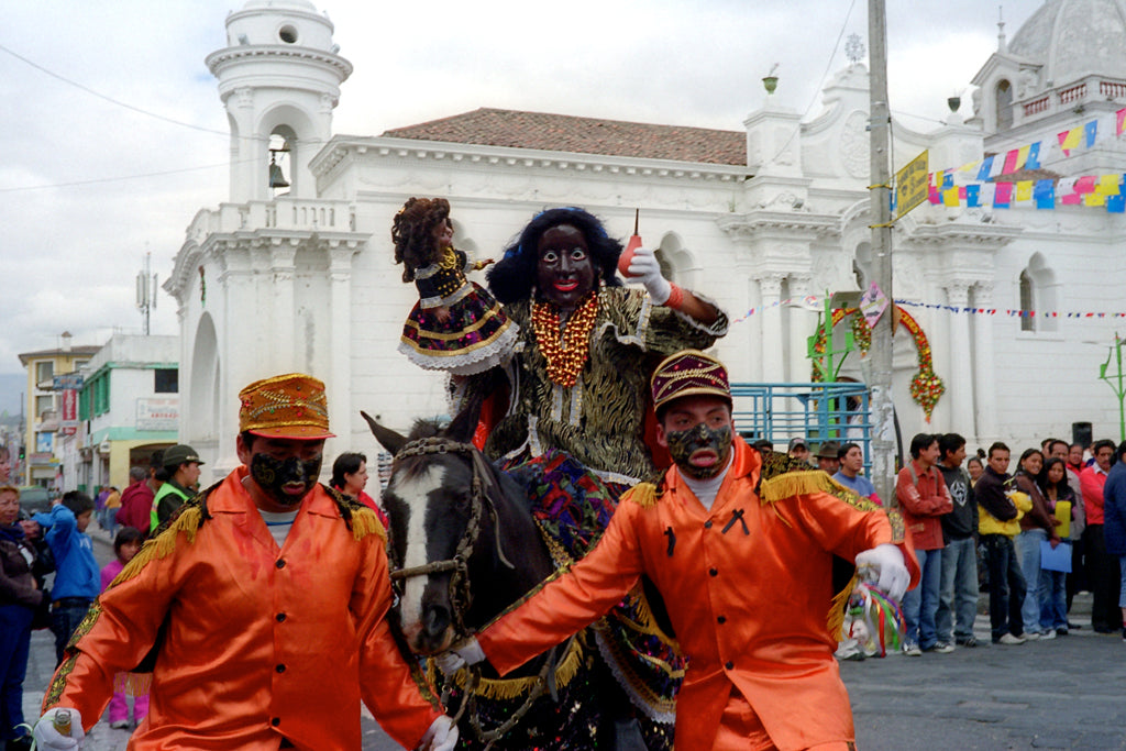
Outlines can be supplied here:
<path id="1" fill-rule="evenodd" d="M 107 551 L 101 546 L 99 556 Z M 1072 618 L 1085 626 L 1089 613 L 1090 598 L 1081 594 Z M 974 631 L 983 644 L 973 650 L 841 664 L 860 749 L 1126 751 L 1126 642 L 1119 635 L 1084 627 L 1007 647 L 989 644 L 988 617 L 978 616 Z M 36 632 L 25 683 L 28 717 L 38 716 L 53 668 L 50 632 Z M 369 715 L 361 722 L 364 751 L 399 748 Z M 86 749 L 120 751 L 127 739 L 127 731 L 99 723 Z"/>

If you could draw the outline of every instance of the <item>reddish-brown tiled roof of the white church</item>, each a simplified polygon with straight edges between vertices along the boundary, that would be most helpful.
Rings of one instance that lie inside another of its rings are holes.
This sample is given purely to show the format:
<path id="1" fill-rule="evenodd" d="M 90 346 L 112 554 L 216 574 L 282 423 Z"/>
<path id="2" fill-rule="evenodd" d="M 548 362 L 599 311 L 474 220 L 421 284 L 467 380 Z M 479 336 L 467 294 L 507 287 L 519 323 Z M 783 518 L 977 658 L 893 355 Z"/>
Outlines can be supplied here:
<path id="1" fill-rule="evenodd" d="M 475 109 L 395 128 L 383 135 L 604 157 L 747 164 L 747 134 L 741 131 L 624 123 L 511 109 Z"/>

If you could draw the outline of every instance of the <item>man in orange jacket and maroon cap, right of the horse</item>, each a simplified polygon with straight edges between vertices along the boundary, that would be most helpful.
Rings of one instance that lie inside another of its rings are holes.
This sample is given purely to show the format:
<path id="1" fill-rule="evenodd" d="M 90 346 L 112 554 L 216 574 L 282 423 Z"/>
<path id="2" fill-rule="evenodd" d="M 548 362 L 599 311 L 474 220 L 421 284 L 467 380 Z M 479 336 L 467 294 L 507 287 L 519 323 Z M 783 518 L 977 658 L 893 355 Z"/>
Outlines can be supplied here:
<path id="1" fill-rule="evenodd" d="M 586 558 L 445 655 L 443 668 L 488 658 L 503 674 L 597 619 L 645 573 L 689 658 L 677 748 L 849 748 L 832 557 L 872 566 L 901 598 L 918 579 L 902 521 L 824 492 L 832 484 L 822 472 L 760 482 L 759 453 L 734 431 L 727 373 L 704 352 L 667 358 L 652 391 L 658 440 L 674 466 L 660 485 L 623 498 Z"/>

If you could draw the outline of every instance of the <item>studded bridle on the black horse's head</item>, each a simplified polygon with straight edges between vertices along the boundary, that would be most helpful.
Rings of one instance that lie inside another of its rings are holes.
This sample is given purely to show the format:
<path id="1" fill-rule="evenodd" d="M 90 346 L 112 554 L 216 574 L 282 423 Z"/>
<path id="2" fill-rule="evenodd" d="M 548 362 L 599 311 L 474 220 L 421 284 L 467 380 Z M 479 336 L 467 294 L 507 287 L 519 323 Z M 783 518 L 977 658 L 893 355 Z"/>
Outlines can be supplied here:
<path id="1" fill-rule="evenodd" d="M 470 587 L 470 556 L 473 547 L 477 544 L 481 535 L 481 517 L 485 510 L 493 521 L 493 538 L 497 546 L 497 557 L 509 569 L 515 569 L 504 555 L 500 544 L 500 517 L 493 498 L 500 498 L 501 489 L 497 482 L 497 475 L 492 472 L 489 463 L 481 450 L 473 444 L 463 444 L 449 438 L 438 436 L 430 438 L 419 438 L 403 446 L 395 454 L 395 461 L 411 456 L 426 456 L 429 454 L 461 454 L 470 457 L 473 466 L 473 481 L 470 488 L 470 519 L 465 525 L 465 531 L 457 542 L 454 556 L 445 561 L 430 561 L 420 566 L 404 569 L 392 554 L 391 581 L 396 589 L 401 588 L 401 582 L 414 576 L 428 576 L 435 573 L 453 572 L 449 578 L 449 605 L 450 617 L 454 620 L 454 631 L 459 638 L 470 636 L 465 627 L 465 615 L 473 604 L 473 591 Z M 393 546 L 392 546 L 393 547 Z M 400 596 L 402 592 L 399 592 Z"/>

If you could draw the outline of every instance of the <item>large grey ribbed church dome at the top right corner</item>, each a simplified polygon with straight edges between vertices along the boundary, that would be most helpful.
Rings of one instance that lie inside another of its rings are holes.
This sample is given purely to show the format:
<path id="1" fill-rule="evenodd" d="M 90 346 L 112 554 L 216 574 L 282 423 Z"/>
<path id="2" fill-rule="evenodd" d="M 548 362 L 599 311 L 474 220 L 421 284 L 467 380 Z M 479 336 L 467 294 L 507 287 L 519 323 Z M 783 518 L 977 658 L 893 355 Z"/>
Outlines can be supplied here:
<path id="1" fill-rule="evenodd" d="M 1043 65 L 1048 86 L 1092 73 L 1126 77 L 1124 0 L 1047 0 L 1013 35 L 1009 52 Z"/>

